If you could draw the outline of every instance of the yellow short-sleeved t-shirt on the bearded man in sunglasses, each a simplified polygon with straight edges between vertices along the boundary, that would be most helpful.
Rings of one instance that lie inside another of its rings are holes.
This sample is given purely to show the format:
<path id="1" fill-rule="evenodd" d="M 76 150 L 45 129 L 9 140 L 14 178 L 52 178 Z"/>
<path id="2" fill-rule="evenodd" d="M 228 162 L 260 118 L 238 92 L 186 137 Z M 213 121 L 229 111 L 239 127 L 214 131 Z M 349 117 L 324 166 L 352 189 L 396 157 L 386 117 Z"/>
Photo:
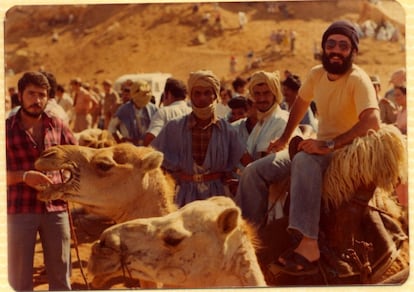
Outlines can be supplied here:
<path id="1" fill-rule="evenodd" d="M 357 65 L 335 81 L 329 81 L 322 65 L 313 67 L 299 89 L 299 96 L 316 103 L 320 140 L 333 139 L 351 129 L 364 110 L 378 109 L 371 80 Z"/>

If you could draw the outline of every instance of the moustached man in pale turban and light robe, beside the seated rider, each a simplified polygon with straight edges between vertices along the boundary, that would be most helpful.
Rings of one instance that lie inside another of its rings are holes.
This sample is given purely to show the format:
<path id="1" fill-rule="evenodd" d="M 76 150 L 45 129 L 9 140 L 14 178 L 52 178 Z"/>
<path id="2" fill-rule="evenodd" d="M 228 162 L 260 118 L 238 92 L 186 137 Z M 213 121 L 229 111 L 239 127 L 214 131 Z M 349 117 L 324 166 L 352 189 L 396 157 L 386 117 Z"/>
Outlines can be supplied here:
<path id="1" fill-rule="evenodd" d="M 285 129 L 289 113 L 280 108 L 280 87 L 279 72 L 258 71 L 250 78 L 249 92 L 258 120 L 247 139 L 247 150 L 253 159 L 267 155 L 270 141 L 280 137 Z"/>

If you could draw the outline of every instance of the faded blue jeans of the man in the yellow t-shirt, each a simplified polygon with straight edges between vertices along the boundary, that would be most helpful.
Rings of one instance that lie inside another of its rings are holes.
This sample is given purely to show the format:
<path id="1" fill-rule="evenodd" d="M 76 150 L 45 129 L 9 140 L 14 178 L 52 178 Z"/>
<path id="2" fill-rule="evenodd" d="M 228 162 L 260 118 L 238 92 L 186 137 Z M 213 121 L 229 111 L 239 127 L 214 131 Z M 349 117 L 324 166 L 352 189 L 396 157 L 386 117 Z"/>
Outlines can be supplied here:
<path id="1" fill-rule="evenodd" d="M 249 164 L 240 178 L 236 203 L 242 215 L 255 225 L 265 220 L 269 186 L 288 175 L 290 209 L 288 229 L 306 237 L 318 238 L 323 174 L 332 155 L 298 152 L 290 161 L 287 150 L 269 154 Z"/>

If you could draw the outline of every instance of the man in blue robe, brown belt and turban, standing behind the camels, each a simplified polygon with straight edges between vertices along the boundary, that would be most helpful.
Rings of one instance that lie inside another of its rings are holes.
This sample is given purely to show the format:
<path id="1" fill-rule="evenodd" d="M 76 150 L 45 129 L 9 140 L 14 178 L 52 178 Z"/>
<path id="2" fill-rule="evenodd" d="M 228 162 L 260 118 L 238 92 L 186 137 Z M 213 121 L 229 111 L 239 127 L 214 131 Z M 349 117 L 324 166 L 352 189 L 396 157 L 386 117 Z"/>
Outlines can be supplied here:
<path id="1" fill-rule="evenodd" d="M 192 112 L 169 121 L 151 143 L 164 153 L 163 167 L 179 185 L 180 207 L 228 193 L 225 182 L 234 167 L 250 162 L 237 131 L 215 115 L 220 81 L 214 73 L 190 73 L 188 91 Z"/>

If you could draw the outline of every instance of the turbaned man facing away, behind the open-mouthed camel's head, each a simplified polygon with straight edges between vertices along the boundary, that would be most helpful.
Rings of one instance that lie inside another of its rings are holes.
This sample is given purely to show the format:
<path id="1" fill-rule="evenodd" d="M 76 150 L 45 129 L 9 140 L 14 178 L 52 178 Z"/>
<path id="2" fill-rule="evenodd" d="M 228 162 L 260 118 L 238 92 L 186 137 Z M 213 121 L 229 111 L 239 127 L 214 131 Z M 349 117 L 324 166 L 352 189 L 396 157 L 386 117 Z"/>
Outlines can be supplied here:
<path id="1" fill-rule="evenodd" d="M 157 107 L 150 103 L 152 91 L 147 81 L 136 80 L 129 89 L 131 99 L 115 112 L 109 122 L 108 131 L 119 138 L 117 140 L 130 141 L 141 146 Z M 118 137 L 118 132 L 122 137 Z"/>

